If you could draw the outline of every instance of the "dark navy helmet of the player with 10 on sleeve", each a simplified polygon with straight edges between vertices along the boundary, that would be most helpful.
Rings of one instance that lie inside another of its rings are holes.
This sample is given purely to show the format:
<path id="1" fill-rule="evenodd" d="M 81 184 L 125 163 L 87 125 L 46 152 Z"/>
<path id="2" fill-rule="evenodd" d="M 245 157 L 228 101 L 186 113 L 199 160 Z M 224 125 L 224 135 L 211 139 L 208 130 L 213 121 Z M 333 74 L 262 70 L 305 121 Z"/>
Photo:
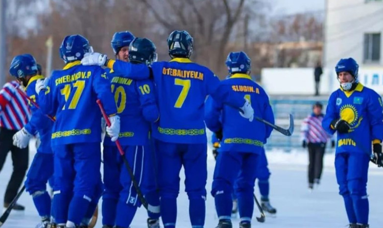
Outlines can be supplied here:
<path id="1" fill-rule="evenodd" d="M 129 45 L 129 62 L 149 65 L 155 61 L 157 53 L 154 43 L 146 38 L 134 38 Z"/>

